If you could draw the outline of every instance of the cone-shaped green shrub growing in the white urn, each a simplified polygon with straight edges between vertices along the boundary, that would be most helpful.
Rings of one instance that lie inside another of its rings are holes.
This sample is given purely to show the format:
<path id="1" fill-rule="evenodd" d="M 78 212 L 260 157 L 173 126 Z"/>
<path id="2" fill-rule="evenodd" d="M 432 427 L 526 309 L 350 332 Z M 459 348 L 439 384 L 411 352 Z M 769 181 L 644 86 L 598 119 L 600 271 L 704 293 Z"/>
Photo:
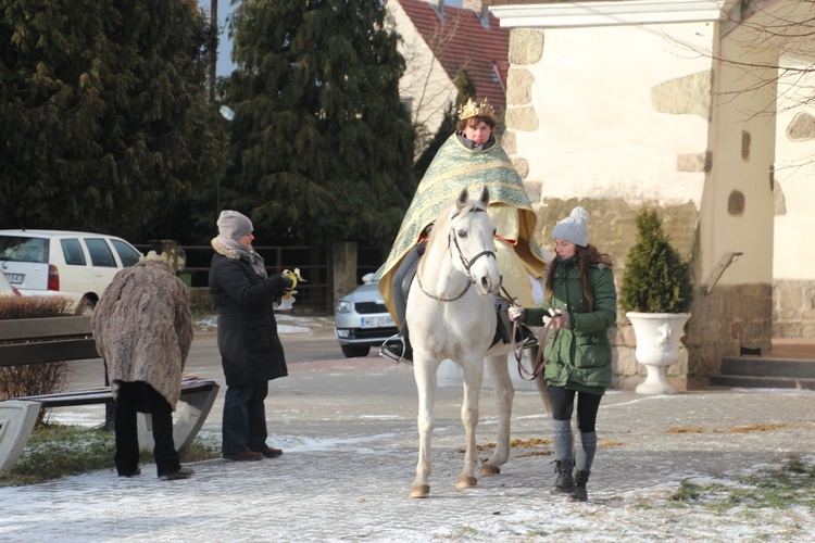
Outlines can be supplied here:
<path id="1" fill-rule="evenodd" d="M 653 210 L 637 215 L 637 242 L 628 252 L 619 288 L 624 312 L 688 313 L 693 303 L 690 264 L 684 262 Z"/>

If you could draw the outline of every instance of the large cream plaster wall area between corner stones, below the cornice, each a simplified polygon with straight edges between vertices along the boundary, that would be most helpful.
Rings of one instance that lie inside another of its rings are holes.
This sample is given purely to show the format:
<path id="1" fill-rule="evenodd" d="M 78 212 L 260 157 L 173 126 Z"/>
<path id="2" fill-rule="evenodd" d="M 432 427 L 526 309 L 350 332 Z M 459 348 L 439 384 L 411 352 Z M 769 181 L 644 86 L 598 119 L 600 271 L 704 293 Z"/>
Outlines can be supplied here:
<path id="1" fill-rule="evenodd" d="M 622 198 L 700 206 L 704 173 L 677 172 L 677 155 L 703 154 L 707 118 L 660 113 L 650 91 L 710 71 L 713 24 L 548 28 L 535 77 L 539 130 L 517 134 L 541 198 Z"/>

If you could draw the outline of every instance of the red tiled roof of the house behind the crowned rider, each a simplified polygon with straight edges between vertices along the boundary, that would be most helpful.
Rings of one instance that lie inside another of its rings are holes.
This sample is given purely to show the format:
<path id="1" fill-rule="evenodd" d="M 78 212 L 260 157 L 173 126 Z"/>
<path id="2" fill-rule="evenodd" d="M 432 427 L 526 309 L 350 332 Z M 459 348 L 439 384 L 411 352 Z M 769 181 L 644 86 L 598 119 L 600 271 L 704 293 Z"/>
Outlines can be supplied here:
<path id="1" fill-rule="evenodd" d="M 485 28 L 473 10 L 446 5 L 441 21 L 434 5 L 425 0 L 398 2 L 450 79 L 464 67 L 476 87 L 478 100 L 488 98 L 496 113 L 503 114 L 510 70 L 510 29 L 501 28 L 498 17 L 491 13 L 489 27 Z"/>

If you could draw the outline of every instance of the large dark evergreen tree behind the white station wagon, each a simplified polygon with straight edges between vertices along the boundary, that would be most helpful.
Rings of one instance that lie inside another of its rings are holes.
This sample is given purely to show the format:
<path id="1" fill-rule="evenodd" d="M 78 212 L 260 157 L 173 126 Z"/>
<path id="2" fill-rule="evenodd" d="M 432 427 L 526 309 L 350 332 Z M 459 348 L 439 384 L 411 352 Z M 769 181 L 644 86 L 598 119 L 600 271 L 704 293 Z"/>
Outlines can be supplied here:
<path id="1" fill-rule="evenodd" d="M 193 0 L 0 0 L 0 224 L 173 236 L 226 160 L 208 31 Z"/>

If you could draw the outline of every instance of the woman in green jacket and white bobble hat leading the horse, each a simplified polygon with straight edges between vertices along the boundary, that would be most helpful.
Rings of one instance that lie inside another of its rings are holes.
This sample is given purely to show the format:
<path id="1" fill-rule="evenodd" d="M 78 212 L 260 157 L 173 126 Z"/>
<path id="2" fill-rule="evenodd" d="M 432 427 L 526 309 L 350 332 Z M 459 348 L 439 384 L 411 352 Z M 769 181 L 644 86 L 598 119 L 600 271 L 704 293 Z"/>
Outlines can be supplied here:
<path id="1" fill-rule="evenodd" d="M 557 473 L 552 491 L 581 502 L 587 500 L 586 483 L 597 450 L 597 413 L 611 384 L 607 329 L 617 319 L 611 257 L 589 244 L 588 220 L 588 212 L 578 206 L 552 230 L 557 256 L 548 269 L 541 306 L 510 308 L 510 318 L 526 325 L 543 326 L 552 320 L 543 351 L 548 357 L 544 377 L 552 399 Z M 580 435 L 573 455 L 575 396 Z"/>

